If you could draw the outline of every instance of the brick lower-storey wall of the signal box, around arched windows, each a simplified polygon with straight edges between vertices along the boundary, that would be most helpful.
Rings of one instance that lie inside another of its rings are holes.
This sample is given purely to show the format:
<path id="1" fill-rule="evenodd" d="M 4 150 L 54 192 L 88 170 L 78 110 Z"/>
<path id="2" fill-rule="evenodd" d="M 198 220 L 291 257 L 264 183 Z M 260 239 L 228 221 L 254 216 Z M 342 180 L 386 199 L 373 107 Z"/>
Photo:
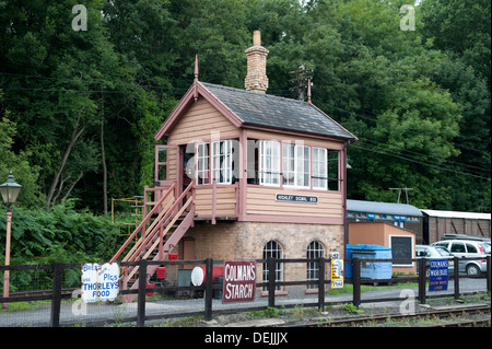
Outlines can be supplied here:
<path id="1" fill-rule="evenodd" d="M 196 222 L 186 233 L 195 240 L 195 258 L 204 259 L 260 259 L 265 245 L 276 241 L 282 246 L 283 258 L 306 258 L 307 246 L 318 241 L 325 248 L 325 257 L 339 252 L 343 257 L 343 226 L 263 222 L 218 222 L 212 225 Z M 258 265 L 258 281 L 261 281 L 262 266 Z M 329 276 L 327 265 L 326 277 Z M 306 279 L 306 265 L 286 264 L 284 281 Z M 304 292 L 305 286 L 285 288 L 290 293 Z"/>

